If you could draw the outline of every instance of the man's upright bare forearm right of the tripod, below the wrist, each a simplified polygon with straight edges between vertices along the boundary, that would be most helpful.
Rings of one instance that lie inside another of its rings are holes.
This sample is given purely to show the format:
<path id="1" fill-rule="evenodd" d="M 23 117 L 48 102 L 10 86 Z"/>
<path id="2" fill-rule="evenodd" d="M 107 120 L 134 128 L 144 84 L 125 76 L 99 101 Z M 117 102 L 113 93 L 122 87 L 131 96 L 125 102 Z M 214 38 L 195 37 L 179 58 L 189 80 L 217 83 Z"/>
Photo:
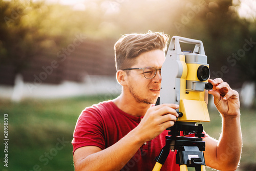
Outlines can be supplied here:
<path id="1" fill-rule="evenodd" d="M 222 116 L 222 135 L 217 147 L 218 163 L 228 170 L 234 170 L 239 164 L 242 151 L 242 133 L 240 114 Z"/>

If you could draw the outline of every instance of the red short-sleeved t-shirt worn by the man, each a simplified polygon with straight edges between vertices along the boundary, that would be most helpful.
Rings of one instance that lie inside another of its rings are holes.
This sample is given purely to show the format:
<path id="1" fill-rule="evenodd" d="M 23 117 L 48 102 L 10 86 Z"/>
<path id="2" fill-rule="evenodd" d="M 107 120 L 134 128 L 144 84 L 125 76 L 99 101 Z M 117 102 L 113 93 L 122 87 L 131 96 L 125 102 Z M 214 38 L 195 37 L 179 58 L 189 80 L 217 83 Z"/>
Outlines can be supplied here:
<path id="1" fill-rule="evenodd" d="M 82 146 L 98 146 L 105 149 L 132 131 L 142 117 L 135 117 L 120 110 L 113 101 L 101 102 L 86 108 L 80 114 L 75 131 L 73 153 Z M 163 131 L 155 139 L 143 144 L 133 158 L 121 170 L 152 170 L 162 147 L 165 145 Z M 127 146 L 129 148 L 129 146 Z M 170 152 L 162 170 L 180 170 L 176 164 L 176 152 Z"/>

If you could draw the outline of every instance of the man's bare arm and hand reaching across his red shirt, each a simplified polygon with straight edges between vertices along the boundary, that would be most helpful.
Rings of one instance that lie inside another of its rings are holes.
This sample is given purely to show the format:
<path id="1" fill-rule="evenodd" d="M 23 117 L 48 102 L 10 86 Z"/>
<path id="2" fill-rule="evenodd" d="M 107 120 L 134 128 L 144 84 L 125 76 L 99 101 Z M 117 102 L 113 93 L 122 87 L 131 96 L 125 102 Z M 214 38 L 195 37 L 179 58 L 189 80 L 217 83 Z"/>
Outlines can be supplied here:
<path id="1" fill-rule="evenodd" d="M 141 145 L 173 126 L 178 114 L 175 104 L 161 104 L 148 109 L 140 124 L 114 145 L 101 150 L 84 146 L 74 152 L 75 170 L 120 170 Z"/>

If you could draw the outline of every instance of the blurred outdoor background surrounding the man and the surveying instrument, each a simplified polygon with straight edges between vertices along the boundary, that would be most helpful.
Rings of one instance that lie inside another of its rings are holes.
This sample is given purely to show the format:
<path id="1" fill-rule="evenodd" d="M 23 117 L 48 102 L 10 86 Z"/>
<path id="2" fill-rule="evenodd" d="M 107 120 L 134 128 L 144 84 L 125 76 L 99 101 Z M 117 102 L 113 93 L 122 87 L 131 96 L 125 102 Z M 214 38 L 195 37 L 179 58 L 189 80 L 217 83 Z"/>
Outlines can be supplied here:
<path id="1" fill-rule="evenodd" d="M 121 91 L 115 42 L 148 30 L 203 41 L 210 77 L 240 93 L 238 170 L 256 170 L 255 11 L 253 0 L 0 0 L 0 134 L 8 114 L 9 139 L 8 167 L 1 140 L 0 170 L 74 170 L 71 140 L 80 112 Z M 209 110 L 204 128 L 218 139 L 221 117 L 211 96 Z"/>

